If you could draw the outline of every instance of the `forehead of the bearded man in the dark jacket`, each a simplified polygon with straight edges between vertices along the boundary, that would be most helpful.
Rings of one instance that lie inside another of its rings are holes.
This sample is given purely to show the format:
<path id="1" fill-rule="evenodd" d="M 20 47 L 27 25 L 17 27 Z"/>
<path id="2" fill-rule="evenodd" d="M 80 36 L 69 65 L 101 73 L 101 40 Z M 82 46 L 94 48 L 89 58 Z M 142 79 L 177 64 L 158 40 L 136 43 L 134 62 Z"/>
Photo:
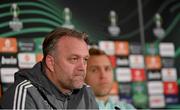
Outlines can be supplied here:
<path id="1" fill-rule="evenodd" d="M 57 43 L 57 49 L 61 54 L 89 55 L 88 45 L 83 39 L 74 37 L 62 37 Z"/>

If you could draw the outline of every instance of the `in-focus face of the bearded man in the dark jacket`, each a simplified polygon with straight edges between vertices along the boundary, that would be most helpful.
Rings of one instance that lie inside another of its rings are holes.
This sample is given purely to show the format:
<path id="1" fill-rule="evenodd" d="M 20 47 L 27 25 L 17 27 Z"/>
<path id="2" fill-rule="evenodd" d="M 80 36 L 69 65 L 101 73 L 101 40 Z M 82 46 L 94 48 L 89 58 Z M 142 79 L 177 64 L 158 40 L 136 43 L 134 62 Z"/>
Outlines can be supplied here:
<path id="1" fill-rule="evenodd" d="M 87 44 L 80 39 L 62 37 L 54 57 L 54 80 L 64 90 L 81 88 L 89 57 Z"/>

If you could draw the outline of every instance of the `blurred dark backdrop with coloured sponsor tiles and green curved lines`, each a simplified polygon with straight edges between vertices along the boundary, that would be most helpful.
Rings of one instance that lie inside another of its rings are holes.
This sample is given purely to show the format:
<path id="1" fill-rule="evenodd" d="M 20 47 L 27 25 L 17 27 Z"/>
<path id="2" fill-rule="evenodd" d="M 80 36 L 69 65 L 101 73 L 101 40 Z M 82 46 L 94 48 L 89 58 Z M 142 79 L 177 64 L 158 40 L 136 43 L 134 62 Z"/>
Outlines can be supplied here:
<path id="1" fill-rule="evenodd" d="M 178 108 L 179 4 L 178 0 L 142 0 L 145 39 L 142 46 L 136 0 L 1 0 L 2 90 L 6 91 L 14 82 L 16 71 L 31 68 L 42 59 L 44 36 L 64 25 L 64 8 L 68 7 L 71 25 L 88 32 L 91 44 L 106 51 L 112 61 L 115 83 L 111 97 L 114 101 L 120 99 L 136 108 Z M 120 29 L 116 36 L 108 32 L 111 10 L 116 11 Z M 153 32 L 157 13 L 161 15 L 166 33 L 161 39 Z"/>

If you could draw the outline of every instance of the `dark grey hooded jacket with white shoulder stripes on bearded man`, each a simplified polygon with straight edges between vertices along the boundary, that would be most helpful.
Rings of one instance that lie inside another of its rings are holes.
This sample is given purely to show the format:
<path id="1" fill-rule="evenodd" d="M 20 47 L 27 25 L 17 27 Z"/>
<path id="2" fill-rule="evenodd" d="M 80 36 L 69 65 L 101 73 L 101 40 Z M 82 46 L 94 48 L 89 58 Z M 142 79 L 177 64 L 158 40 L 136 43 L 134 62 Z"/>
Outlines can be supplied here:
<path id="1" fill-rule="evenodd" d="M 15 83 L 4 93 L 3 109 L 98 109 L 90 87 L 62 94 L 44 74 L 42 62 L 15 74 Z"/>

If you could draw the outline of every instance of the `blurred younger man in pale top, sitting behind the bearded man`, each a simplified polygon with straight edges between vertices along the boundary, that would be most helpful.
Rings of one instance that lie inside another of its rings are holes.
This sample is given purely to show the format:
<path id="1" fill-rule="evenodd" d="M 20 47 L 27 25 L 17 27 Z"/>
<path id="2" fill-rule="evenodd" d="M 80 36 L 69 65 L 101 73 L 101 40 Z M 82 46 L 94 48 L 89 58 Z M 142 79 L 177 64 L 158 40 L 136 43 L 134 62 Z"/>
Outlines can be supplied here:
<path id="1" fill-rule="evenodd" d="M 90 57 L 87 65 L 87 75 L 85 81 L 89 84 L 96 95 L 99 109 L 135 109 L 132 105 L 125 102 L 113 103 L 109 93 L 113 84 L 113 70 L 111 62 L 104 51 L 91 48 Z"/>

